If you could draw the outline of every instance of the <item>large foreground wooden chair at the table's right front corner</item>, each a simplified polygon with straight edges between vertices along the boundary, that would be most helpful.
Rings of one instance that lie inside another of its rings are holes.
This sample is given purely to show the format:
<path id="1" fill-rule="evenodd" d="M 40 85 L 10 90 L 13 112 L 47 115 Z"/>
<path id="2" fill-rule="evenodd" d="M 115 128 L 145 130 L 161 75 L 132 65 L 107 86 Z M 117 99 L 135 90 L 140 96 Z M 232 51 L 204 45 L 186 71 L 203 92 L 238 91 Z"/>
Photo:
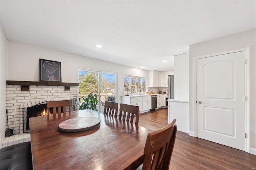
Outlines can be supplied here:
<path id="1" fill-rule="evenodd" d="M 177 133 L 175 122 L 176 119 L 173 119 L 166 127 L 148 134 L 142 170 L 169 169 Z"/>

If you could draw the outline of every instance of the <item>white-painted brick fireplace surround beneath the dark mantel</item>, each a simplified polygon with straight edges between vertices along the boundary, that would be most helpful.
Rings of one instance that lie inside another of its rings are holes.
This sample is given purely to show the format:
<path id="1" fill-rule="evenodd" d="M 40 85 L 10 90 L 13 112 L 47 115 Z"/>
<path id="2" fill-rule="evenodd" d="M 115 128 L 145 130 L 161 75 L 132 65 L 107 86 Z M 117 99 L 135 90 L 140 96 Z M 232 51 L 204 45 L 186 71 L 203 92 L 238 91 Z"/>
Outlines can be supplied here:
<path id="1" fill-rule="evenodd" d="M 14 135 L 23 133 L 22 108 L 50 100 L 69 100 L 78 96 L 78 83 L 64 83 L 63 86 L 61 83 L 58 83 L 58 85 L 50 85 L 49 83 L 48 85 L 26 85 L 25 90 L 22 90 L 24 89 L 23 85 L 16 84 L 7 83 L 6 85 L 8 122 L 9 128 L 13 129 Z M 66 86 L 66 84 L 71 86 Z"/>

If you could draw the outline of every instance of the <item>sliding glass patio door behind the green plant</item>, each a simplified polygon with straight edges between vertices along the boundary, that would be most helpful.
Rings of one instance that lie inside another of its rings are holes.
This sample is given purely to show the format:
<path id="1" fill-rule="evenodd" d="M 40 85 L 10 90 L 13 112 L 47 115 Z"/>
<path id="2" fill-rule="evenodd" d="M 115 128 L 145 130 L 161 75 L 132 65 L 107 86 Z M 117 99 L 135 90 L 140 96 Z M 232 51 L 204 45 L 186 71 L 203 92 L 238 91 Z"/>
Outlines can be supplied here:
<path id="1" fill-rule="evenodd" d="M 79 96 L 88 96 L 91 92 L 98 94 L 98 111 L 104 110 L 105 101 L 116 101 L 117 73 L 80 69 L 78 75 Z"/>

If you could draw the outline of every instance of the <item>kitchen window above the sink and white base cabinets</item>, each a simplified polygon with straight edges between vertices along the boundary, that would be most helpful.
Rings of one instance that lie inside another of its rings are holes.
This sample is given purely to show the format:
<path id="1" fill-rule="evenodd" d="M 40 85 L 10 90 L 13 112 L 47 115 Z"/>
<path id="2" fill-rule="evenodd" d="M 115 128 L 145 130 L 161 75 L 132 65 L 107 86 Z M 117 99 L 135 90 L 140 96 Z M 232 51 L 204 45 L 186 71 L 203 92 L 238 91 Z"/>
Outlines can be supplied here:
<path id="1" fill-rule="evenodd" d="M 138 78 L 132 76 L 124 77 L 124 95 L 134 93 L 146 93 L 147 78 Z"/>

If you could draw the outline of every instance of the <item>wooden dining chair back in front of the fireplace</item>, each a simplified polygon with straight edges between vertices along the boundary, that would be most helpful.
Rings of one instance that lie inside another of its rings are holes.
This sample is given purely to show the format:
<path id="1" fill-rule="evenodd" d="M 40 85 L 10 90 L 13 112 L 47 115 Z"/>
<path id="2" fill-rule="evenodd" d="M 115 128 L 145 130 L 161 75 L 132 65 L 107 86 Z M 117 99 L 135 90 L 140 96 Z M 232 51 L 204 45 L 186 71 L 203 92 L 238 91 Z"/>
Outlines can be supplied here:
<path id="1" fill-rule="evenodd" d="M 56 113 L 66 113 L 66 107 L 69 107 L 69 113 L 71 112 L 71 102 L 70 100 L 59 100 L 59 101 L 49 101 L 47 102 L 47 110 L 50 111 L 50 108 L 53 108 L 52 114 Z M 63 109 L 63 112 L 62 112 Z"/>

